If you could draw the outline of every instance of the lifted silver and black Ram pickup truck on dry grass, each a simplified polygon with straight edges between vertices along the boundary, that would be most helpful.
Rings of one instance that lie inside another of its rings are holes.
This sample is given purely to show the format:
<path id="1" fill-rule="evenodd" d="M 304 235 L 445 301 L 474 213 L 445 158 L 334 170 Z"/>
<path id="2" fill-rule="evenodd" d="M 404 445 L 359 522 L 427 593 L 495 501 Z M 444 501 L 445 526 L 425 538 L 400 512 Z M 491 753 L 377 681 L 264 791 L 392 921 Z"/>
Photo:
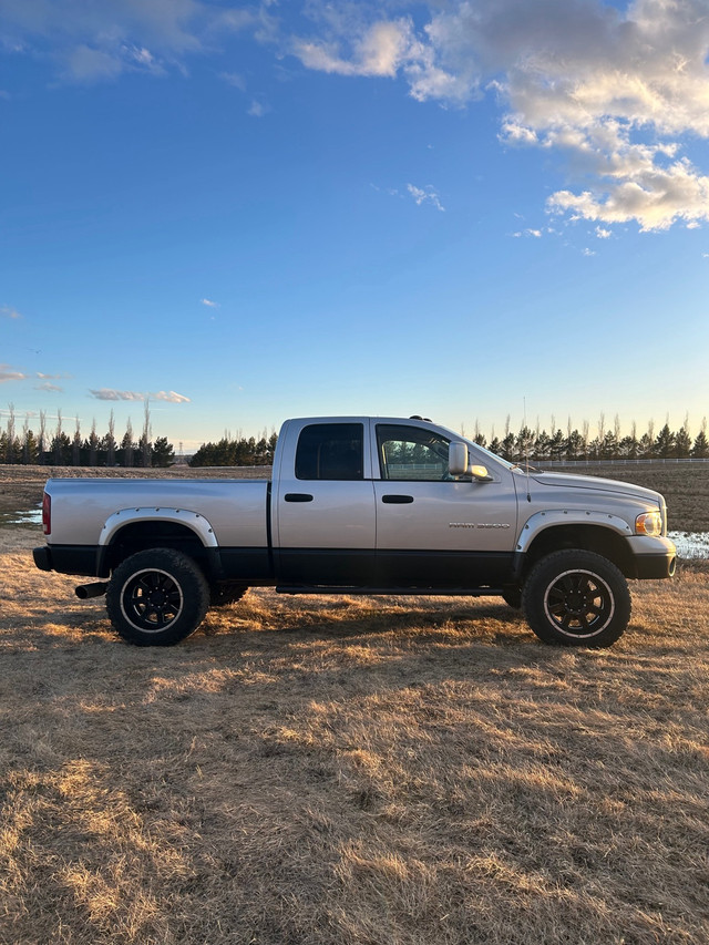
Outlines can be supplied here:
<path id="1" fill-rule="evenodd" d="M 609 646 L 627 578 L 675 572 L 667 509 L 624 482 L 525 470 L 420 418 L 287 420 L 273 481 L 51 479 L 42 571 L 106 578 L 116 631 L 184 639 L 249 586 L 503 597 L 545 643 Z"/>

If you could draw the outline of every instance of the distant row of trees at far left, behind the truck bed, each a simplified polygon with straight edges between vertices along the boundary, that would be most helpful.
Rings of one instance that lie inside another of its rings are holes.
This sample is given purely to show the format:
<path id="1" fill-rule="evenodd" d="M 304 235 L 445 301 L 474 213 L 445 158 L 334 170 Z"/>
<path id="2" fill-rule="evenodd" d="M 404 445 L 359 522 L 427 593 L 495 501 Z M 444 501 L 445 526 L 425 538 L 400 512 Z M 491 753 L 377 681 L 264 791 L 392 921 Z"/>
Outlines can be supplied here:
<path id="1" fill-rule="evenodd" d="M 70 428 L 71 430 L 71 428 Z M 49 429 L 45 411 L 40 411 L 39 427 L 32 430 L 29 418 L 18 427 L 12 404 L 8 411 L 8 422 L 0 432 L 0 463 L 40 464 L 55 466 L 169 466 L 175 461 L 175 452 L 166 436 L 152 440 L 151 418 L 147 402 L 143 430 L 135 438 L 129 420 L 121 440 L 115 435 L 113 411 L 109 420 L 109 430 L 103 436 L 96 432 L 96 422 L 84 436 L 79 418 L 73 431 L 64 430 L 61 410 L 56 412 L 56 424 Z"/>

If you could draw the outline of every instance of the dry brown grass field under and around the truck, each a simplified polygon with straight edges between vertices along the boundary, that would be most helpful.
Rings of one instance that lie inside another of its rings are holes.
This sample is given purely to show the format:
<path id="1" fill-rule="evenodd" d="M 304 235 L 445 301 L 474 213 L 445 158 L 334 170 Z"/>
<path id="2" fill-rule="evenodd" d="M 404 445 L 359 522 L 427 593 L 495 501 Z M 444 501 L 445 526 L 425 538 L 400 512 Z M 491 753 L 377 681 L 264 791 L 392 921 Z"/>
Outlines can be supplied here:
<path id="1" fill-rule="evenodd" d="M 160 650 L 41 541 L 0 525 L 3 945 L 709 943 L 706 562 L 608 650 L 270 590 Z"/>

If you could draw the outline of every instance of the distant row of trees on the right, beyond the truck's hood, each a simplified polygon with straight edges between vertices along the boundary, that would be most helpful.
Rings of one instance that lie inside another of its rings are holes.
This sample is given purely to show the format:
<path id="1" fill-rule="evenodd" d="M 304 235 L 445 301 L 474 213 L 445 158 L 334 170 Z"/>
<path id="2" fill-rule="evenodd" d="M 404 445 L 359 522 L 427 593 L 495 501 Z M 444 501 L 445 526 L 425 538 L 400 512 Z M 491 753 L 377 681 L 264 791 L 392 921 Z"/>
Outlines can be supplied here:
<path id="1" fill-rule="evenodd" d="M 650 420 L 647 430 L 638 435 L 635 422 L 630 432 L 623 434 L 620 422 L 616 417 L 610 427 L 606 427 L 605 417 L 602 413 L 598 424 L 592 434 L 590 424 L 584 421 L 580 430 L 572 428 L 571 420 L 566 430 L 557 428 L 554 418 L 549 432 L 540 428 L 535 429 L 523 424 L 518 432 L 510 429 L 510 418 L 505 424 L 503 435 L 496 436 L 494 429 L 490 442 L 481 433 L 475 423 L 473 440 L 491 452 L 496 453 L 510 462 L 522 462 L 525 459 L 536 462 L 594 462 L 599 460 L 684 460 L 684 459 L 709 459 L 709 439 L 707 438 L 707 418 L 701 422 L 701 428 L 696 436 L 689 433 L 687 418 L 679 430 L 671 430 L 669 422 L 657 433 L 655 422 Z"/>

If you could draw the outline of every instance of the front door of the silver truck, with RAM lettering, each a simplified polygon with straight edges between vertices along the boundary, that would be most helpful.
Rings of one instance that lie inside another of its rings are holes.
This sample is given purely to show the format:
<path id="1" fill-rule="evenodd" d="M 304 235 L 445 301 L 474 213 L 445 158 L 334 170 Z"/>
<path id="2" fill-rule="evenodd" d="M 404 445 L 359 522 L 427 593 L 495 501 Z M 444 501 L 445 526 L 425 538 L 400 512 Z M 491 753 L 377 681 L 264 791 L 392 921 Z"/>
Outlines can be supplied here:
<path id="1" fill-rule="evenodd" d="M 441 432 L 398 423 L 372 425 L 372 452 L 381 475 L 374 480 L 377 584 L 503 584 L 516 540 L 512 473 L 500 465 L 489 469 L 493 482 L 451 480 L 450 440 Z"/>

